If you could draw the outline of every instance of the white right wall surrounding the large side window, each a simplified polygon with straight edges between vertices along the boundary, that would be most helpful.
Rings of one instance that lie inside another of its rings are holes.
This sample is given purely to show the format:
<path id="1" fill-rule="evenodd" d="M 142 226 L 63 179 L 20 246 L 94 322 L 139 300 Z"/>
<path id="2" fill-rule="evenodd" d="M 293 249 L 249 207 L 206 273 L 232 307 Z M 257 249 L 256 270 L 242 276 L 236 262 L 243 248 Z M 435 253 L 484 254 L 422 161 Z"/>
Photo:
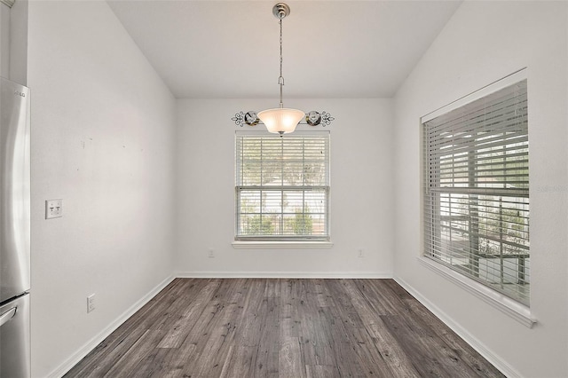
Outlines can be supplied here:
<path id="1" fill-rule="evenodd" d="M 567 7 L 465 2 L 395 98 L 395 276 L 512 376 L 568 376 Z M 528 67 L 533 329 L 417 261 L 420 117 L 522 67 Z"/>

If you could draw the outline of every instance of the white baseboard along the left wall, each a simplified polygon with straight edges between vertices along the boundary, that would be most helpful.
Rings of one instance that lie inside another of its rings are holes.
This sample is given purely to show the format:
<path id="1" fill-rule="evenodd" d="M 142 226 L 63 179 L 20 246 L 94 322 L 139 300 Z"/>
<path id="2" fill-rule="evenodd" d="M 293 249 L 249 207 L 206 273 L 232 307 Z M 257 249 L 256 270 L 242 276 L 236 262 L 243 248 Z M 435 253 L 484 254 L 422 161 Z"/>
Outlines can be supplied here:
<path id="1" fill-rule="evenodd" d="M 167 287 L 175 277 L 171 275 L 165 280 L 162 280 L 157 286 L 155 286 L 150 292 L 144 295 L 142 298 L 138 300 L 137 303 L 134 303 L 130 306 L 130 308 L 122 314 L 114 319 L 108 327 L 103 329 L 99 332 L 99 335 L 94 336 L 89 342 L 85 343 L 83 347 L 77 350 L 71 357 L 67 358 L 61 365 L 59 365 L 55 370 L 53 370 L 48 377 L 49 378 L 60 378 L 63 375 L 67 374 L 69 370 L 79 361 L 81 361 L 87 354 L 91 352 L 91 350 L 95 349 L 99 343 L 108 337 L 108 335 L 112 334 L 116 328 L 120 327 L 122 323 L 124 323 L 127 319 L 129 319 L 134 313 L 142 308 L 146 303 L 148 303 L 155 295 L 157 295 L 164 287 Z"/>

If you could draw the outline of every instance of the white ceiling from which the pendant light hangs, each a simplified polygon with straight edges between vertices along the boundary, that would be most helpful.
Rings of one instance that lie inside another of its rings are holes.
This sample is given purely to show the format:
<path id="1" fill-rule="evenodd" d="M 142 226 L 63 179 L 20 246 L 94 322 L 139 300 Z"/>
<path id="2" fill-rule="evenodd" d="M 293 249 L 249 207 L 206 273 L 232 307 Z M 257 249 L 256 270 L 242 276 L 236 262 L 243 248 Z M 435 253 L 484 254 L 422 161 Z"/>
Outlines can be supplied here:
<path id="1" fill-rule="evenodd" d="M 277 0 L 107 3 L 177 98 L 278 98 Z M 284 98 L 389 98 L 461 1 L 287 4 Z"/>

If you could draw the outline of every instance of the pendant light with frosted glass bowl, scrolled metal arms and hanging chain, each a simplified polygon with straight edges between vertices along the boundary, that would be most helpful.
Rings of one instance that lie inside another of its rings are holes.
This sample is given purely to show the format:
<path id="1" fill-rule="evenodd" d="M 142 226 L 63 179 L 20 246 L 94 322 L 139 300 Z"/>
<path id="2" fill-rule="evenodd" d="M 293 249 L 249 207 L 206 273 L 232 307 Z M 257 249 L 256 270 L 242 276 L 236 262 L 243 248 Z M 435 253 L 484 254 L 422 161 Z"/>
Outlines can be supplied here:
<path id="1" fill-rule="evenodd" d="M 253 111 L 249 111 L 246 114 L 244 112 L 239 112 L 235 114 L 232 120 L 235 124 L 241 127 L 244 124 L 256 126 L 258 123 L 264 123 L 266 130 L 275 134 L 280 134 L 280 136 L 296 130 L 298 123 L 303 120 L 311 126 L 317 126 L 319 124 L 327 126 L 334 120 L 329 113 L 312 111 L 305 114 L 302 110 L 284 107 L 284 103 L 282 102 L 282 87 L 284 86 L 284 76 L 282 75 L 282 20 L 290 14 L 290 7 L 288 4 L 284 3 L 276 4 L 272 7 L 272 14 L 278 19 L 278 23 L 280 25 L 280 76 L 278 77 L 278 85 L 280 86 L 280 106 L 263 110 L 258 114 Z"/>

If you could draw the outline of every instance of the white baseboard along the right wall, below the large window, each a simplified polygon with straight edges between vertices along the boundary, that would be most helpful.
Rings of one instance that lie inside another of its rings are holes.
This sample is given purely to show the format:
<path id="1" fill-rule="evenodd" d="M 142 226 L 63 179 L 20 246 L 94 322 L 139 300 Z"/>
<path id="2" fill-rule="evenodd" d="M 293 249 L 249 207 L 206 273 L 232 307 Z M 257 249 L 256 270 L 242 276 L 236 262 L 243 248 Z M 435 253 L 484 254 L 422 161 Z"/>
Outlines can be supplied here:
<path id="1" fill-rule="evenodd" d="M 394 280 L 397 281 L 398 285 L 404 287 L 408 293 L 414 296 L 418 302 L 422 303 L 430 312 L 442 320 L 447 327 L 450 327 L 457 335 L 459 335 L 466 343 L 469 343 L 471 347 L 479 354 L 481 354 L 487 361 L 489 361 L 493 366 L 505 374 L 509 378 L 521 378 L 522 375 L 517 372 L 517 370 L 503 361 L 499 356 L 495 355 L 492 350 L 489 350 L 484 343 L 481 343 L 474 335 L 471 335 L 467 329 L 461 327 L 460 324 L 456 323 L 454 319 L 446 314 L 446 312 L 439 309 L 439 307 L 431 303 L 425 296 L 420 294 L 419 291 L 410 286 L 405 280 L 400 277 L 395 276 Z"/>

